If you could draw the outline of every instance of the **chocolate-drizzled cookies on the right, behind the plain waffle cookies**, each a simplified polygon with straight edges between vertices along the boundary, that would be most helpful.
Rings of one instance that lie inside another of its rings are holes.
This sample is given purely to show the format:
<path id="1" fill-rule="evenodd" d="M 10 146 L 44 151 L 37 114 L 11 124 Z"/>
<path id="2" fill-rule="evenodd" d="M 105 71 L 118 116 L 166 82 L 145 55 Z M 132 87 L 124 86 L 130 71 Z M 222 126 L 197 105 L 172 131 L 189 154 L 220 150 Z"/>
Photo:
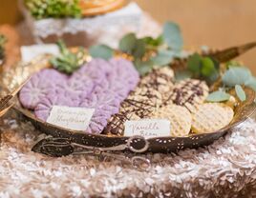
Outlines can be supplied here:
<path id="1" fill-rule="evenodd" d="M 172 93 L 165 104 L 176 104 L 195 111 L 198 105 L 203 104 L 209 93 L 209 88 L 204 81 L 187 79 L 174 86 Z"/>

